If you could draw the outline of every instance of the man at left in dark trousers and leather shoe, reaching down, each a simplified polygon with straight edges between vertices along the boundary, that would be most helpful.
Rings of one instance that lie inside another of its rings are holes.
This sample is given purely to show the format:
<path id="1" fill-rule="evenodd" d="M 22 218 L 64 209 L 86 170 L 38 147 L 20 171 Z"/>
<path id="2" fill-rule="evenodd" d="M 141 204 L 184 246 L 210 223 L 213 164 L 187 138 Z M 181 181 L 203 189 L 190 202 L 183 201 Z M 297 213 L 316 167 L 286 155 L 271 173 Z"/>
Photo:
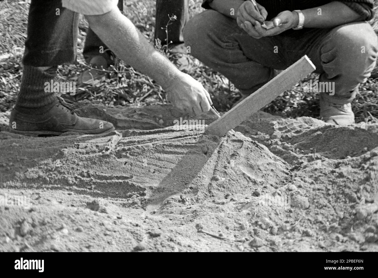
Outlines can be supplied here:
<path id="1" fill-rule="evenodd" d="M 174 106 L 188 113 L 209 111 L 212 103 L 203 86 L 155 51 L 121 14 L 117 3 L 118 0 L 31 1 L 20 92 L 9 119 L 13 132 L 36 136 L 114 130 L 111 123 L 79 117 L 53 91 L 45 90 L 45 83 L 56 76 L 57 65 L 76 60 L 79 13 L 120 59 L 155 79 Z"/>

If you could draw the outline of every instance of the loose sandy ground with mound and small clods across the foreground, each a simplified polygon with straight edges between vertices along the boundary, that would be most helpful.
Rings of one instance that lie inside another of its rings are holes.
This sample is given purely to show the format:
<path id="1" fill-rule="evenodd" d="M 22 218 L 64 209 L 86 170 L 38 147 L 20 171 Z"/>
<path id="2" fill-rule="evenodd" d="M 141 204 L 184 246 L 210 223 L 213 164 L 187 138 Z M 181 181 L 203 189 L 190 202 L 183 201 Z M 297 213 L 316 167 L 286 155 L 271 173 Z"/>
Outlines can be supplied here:
<path id="1" fill-rule="evenodd" d="M 117 131 L 28 138 L 0 115 L 0 251 L 378 251 L 378 124 L 258 112 L 218 138 L 171 106 L 75 108 Z"/>

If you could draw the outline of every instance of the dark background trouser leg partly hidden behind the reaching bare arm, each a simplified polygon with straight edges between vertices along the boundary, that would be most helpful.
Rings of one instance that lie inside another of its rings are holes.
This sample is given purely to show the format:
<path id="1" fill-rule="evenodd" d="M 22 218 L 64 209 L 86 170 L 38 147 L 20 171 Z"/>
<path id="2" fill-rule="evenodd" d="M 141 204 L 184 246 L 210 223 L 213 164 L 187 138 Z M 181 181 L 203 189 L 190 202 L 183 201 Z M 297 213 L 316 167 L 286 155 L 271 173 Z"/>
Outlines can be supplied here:
<path id="1" fill-rule="evenodd" d="M 123 0 L 118 0 L 118 8 L 120 11 L 123 11 Z M 108 47 L 105 45 L 104 42 L 96 35 L 95 32 L 92 31 L 90 26 L 87 29 L 87 36 L 85 37 L 84 42 L 84 49 L 83 49 L 83 56 L 87 62 L 90 61 L 90 59 L 93 56 L 104 56 L 105 59 L 108 61 L 108 64 L 111 64 L 111 59 L 109 59 L 109 53 L 107 51 L 104 53 L 99 52 L 99 47 L 103 46 L 104 50 L 106 50 Z"/>

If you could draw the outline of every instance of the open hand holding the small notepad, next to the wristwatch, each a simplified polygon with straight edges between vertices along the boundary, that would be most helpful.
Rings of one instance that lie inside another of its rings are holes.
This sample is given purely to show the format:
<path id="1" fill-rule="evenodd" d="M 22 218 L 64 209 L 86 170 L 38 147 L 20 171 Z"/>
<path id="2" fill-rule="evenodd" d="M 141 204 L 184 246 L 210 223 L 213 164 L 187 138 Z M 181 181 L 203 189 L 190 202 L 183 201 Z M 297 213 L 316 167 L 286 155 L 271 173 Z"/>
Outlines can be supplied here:
<path id="1" fill-rule="evenodd" d="M 274 27 L 271 29 L 265 29 L 261 26 L 260 22 L 245 22 L 243 29 L 246 31 L 249 36 L 256 39 L 261 37 L 276 36 L 286 30 L 298 26 L 298 14 L 297 12 L 283 11 L 280 12 L 274 19 L 272 19 Z"/>

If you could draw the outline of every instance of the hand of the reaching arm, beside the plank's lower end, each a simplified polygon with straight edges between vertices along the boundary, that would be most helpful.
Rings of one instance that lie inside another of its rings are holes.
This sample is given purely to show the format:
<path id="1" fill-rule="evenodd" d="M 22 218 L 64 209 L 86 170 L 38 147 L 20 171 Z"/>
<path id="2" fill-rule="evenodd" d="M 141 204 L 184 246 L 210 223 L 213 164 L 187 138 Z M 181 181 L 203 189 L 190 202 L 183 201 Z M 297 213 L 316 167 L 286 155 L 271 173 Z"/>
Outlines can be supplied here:
<path id="1" fill-rule="evenodd" d="M 164 88 L 168 100 L 178 109 L 199 115 L 210 110 L 212 101 L 202 84 L 186 73 L 181 73 Z"/>

